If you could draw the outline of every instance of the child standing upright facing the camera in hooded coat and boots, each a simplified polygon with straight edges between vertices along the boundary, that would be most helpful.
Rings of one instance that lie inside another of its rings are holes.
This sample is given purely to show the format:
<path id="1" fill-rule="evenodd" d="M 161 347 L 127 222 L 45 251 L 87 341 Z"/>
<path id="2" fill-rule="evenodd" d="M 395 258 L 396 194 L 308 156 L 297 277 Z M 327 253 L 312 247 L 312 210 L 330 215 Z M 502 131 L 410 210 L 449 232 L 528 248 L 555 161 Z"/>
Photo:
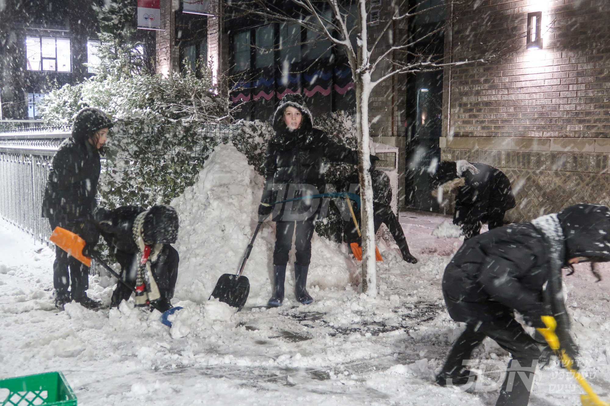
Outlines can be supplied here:
<path id="1" fill-rule="evenodd" d="M 318 210 L 312 209 L 313 200 L 304 199 L 287 204 L 278 204 L 274 211 L 271 203 L 284 199 L 308 196 L 309 191 L 296 191 L 286 196 L 298 185 L 311 185 L 315 193 L 323 193 L 325 173 L 323 158 L 332 162 L 358 163 L 357 151 L 341 146 L 328 135 L 312 126 L 313 119 L 303 96 L 299 93 L 285 94 L 273 116 L 275 135 L 271 137 L 265 151 L 265 188 L 260 200 L 259 221 L 273 212 L 276 222 L 276 241 L 273 251 L 273 295 L 268 305 L 278 307 L 284 301 L 284 279 L 288 254 L 295 236 L 295 295 L 302 304 L 314 301 L 307 293 L 307 272 L 311 258 L 311 238 L 314 234 L 314 219 Z M 291 188 L 291 186 L 293 186 Z M 289 210 L 290 208 L 290 210 Z M 313 213 L 311 213 L 313 212 Z"/>

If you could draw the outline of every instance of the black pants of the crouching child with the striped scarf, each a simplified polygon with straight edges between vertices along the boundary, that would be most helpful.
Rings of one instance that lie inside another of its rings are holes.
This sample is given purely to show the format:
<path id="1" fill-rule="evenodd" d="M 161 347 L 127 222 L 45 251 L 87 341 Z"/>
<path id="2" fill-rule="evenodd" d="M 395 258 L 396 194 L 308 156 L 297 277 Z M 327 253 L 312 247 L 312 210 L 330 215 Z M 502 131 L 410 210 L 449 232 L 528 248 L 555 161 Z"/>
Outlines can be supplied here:
<path id="1" fill-rule="evenodd" d="M 123 251 L 115 251 L 117 262 L 121 265 L 121 279 L 127 285 L 135 287 L 135 279 L 138 270 L 138 255 L 129 254 Z M 178 263 L 180 261 L 178 251 L 171 245 L 164 245 L 161 249 L 156 262 L 152 263 L 151 271 L 154 276 L 159 293 L 168 301 L 174 297 L 176 279 L 178 279 Z M 129 300 L 132 291 L 123 283 L 118 283 L 117 288 L 112 294 L 112 304 L 118 305 L 121 301 Z"/>

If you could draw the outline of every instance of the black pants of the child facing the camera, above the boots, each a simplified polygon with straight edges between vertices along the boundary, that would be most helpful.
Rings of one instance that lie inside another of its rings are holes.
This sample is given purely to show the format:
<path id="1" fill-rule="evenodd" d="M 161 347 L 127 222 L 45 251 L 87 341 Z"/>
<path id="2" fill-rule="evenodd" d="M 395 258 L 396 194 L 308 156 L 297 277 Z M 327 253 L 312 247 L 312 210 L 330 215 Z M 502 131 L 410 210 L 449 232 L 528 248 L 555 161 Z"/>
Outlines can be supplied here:
<path id="1" fill-rule="evenodd" d="M 314 235 L 314 220 L 278 221 L 275 225 L 275 249 L 273 265 L 286 265 L 295 235 L 296 265 L 307 266 L 311 260 L 311 237 Z"/>

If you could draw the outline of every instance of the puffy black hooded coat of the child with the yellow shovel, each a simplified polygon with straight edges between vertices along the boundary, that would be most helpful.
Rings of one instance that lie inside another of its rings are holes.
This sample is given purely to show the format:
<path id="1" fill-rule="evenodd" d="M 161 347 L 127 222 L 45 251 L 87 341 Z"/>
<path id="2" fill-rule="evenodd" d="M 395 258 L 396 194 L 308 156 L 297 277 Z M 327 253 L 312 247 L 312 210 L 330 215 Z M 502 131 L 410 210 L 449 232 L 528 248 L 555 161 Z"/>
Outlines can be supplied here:
<path id="1" fill-rule="evenodd" d="M 555 239 L 540 226 L 545 218 L 551 216 L 499 227 L 464 242 L 443 276 L 451 318 L 476 323 L 512 310 L 544 315 L 552 308 L 556 316 L 565 313 L 557 310 L 563 308 L 562 301 L 553 299 L 558 295 L 545 299 L 542 287 L 553 282 L 561 291 L 561 268 L 570 258 L 610 261 L 610 209 L 587 204 L 565 208 L 556 215 Z"/>

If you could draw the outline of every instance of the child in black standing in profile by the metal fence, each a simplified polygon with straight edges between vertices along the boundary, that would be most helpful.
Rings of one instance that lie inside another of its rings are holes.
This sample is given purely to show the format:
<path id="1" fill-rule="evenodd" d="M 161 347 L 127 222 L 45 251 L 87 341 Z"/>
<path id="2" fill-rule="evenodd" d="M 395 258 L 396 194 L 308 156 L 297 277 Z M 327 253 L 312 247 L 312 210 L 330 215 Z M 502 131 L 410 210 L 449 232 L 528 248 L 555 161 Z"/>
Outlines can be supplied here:
<path id="1" fill-rule="evenodd" d="M 99 238 L 88 219 L 97 205 L 95 197 L 101 171 L 99 151 L 112 126 L 112 121 L 101 110 L 88 107 L 77 113 L 72 136 L 63 141 L 53 156 L 43 197 L 42 216 L 49 219 L 51 229 L 59 226 L 81 236 L 87 242 L 83 250 L 85 255 Z M 63 309 L 71 300 L 85 307 L 99 307 L 101 303 L 85 293 L 89 287 L 88 278 L 87 266 L 56 248 L 53 287 L 57 308 Z M 68 287 L 71 287 L 70 291 Z"/>

